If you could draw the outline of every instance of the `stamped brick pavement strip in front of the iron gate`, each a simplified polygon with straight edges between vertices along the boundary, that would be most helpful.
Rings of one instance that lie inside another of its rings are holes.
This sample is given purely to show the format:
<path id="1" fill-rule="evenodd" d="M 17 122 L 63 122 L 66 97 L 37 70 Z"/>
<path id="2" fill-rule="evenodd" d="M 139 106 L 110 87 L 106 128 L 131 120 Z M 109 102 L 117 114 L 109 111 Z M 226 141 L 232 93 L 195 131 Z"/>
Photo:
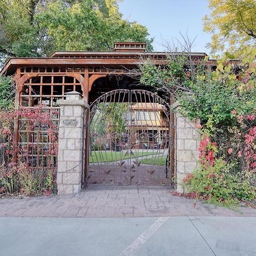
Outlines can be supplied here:
<path id="1" fill-rule="evenodd" d="M 0 199 L 0 216 L 13 217 L 256 217 L 256 209 L 238 212 L 171 195 L 170 187 L 89 185 L 76 195 Z"/>

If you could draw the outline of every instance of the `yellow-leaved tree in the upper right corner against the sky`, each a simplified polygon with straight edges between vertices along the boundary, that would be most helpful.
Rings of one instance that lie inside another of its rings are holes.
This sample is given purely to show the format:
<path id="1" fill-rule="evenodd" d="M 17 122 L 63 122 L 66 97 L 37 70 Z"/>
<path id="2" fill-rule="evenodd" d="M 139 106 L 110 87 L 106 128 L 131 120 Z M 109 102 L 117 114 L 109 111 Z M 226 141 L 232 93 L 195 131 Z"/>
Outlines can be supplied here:
<path id="1" fill-rule="evenodd" d="M 212 53 L 228 50 L 234 57 L 256 46 L 255 0 L 208 0 L 212 10 L 204 30 L 212 34 Z"/>

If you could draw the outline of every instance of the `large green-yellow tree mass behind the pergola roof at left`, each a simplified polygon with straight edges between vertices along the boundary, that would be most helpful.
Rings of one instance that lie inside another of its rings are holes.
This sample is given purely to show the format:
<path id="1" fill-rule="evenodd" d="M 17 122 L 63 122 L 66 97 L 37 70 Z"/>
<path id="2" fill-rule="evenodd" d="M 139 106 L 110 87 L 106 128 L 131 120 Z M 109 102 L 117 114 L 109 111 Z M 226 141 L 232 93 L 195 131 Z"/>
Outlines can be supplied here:
<path id="1" fill-rule="evenodd" d="M 0 59 L 55 50 L 99 51 L 115 41 L 146 41 L 147 28 L 122 19 L 118 0 L 1 0 Z"/>

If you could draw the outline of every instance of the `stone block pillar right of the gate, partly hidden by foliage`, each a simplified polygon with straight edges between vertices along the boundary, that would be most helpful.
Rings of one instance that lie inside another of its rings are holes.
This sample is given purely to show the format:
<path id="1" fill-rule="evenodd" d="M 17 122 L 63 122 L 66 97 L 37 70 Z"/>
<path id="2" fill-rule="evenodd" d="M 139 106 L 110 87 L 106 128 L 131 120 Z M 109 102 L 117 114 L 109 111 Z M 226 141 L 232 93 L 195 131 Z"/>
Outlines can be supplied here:
<path id="1" fill-rule="evenodd" d="M 189 121 L 181 114 L 175 114 L 176 122 L 176 150 L 175 169 L 177 178 L 177 192 L 185 193 L 182 181 L 187 173 L 192 173 L 197 168 L 199 156 L 200 130 L 196 123 Z"/>

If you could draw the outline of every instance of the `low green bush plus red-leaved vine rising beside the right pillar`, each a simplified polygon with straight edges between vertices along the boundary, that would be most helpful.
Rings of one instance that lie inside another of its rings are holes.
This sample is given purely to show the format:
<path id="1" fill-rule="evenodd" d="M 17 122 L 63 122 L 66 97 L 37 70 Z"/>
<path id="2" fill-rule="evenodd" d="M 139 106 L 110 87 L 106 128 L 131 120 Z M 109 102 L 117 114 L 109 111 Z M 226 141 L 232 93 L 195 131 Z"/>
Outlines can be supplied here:
<path id="1" fill-rule="evenodd" d="M 233 163 L 215 158 L 218 149 L 209 137 L 200 142 L 199 150 L 200 167 L 183 180 L 189 192 L 218 205 L 233 205 L 239 200 L 251 201 L 255 198 L 255 187 L 250 184 L 253 172 L 232 173 Z"/>

